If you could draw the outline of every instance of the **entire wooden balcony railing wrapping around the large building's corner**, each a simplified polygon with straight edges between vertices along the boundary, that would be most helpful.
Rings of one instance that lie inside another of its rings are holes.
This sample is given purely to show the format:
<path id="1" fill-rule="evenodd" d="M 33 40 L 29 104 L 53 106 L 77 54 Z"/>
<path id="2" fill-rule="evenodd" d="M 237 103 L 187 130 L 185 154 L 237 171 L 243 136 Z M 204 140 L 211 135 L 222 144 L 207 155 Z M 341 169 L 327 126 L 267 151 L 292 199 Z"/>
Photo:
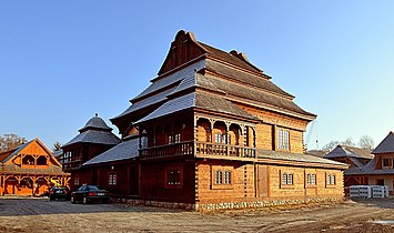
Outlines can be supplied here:
<path id="1" fill-rule="evenodd" d="M 194 151 L 195 149 L 195 151 Z M 221 144 L 221 143 L 209 143 L 209 142 L 180 142 L 168 145 L 159 145 L 154 148 L 148 148 L 140 150 L 141 159 L 162 159 L 170 156 L 183 156 L 183 155 L 192 155 L 192 156 L 204 156 L 204 155 L 213 155 L 220 156 L 219 159 L 224 159 L 224 156 L 231 158 L 255 158 L 255 149 L 246 148 L 240 145 L 230 145 L 230 144 Z"/>

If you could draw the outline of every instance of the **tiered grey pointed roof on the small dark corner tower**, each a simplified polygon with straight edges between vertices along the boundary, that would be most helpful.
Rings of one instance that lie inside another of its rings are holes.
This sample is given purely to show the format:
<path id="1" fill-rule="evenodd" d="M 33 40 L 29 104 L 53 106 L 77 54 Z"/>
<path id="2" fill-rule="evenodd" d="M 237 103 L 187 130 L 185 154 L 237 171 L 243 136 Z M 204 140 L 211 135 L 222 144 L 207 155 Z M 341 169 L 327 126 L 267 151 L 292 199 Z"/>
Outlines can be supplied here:
<path id="1" fill-rule="evenodd" d="M 75 143 L 119 144 L 121 140 L 111 131 L 112 129 L 95 114 L 95 116 L 90 119 L 87 124 L 79 130 L 80 134 L 65 143 L 62 148 Z"/>

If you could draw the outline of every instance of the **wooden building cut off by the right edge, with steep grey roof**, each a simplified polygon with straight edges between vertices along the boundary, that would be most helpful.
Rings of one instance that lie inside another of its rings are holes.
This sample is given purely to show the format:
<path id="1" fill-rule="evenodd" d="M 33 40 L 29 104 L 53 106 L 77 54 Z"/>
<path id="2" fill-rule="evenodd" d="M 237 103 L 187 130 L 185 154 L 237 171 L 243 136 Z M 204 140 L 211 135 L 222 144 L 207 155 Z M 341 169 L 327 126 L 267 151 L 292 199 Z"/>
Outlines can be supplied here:
<path id="1" fill-rule="evenodd" d="M 346 173 L 356 184 L 387 185 L 390 195 L 394 194 L 394 133 L 388 135 L 372 151 L 375 155 L 365 166 Z"/>

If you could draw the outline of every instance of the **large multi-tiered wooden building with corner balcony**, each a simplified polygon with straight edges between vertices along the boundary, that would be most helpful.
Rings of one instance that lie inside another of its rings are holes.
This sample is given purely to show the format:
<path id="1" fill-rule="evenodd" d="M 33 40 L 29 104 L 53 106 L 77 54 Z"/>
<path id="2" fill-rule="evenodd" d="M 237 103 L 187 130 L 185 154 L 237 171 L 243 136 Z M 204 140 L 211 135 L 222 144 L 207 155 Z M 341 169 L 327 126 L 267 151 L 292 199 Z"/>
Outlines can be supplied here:
<path id="1" fill-rule="evenodd" d="M 316 115 L 244 53 L 181 30 L 151 82 L 111 119 L 123 142 L 83 164 L 107 172 L 98 182 L 195 210 L 343 199 L 347 165 L 304 154 L 303 133 Z M 129 165 L 117 174 L 122 161 Z M 113 174 L 128 178 L 119 184 Z"/>

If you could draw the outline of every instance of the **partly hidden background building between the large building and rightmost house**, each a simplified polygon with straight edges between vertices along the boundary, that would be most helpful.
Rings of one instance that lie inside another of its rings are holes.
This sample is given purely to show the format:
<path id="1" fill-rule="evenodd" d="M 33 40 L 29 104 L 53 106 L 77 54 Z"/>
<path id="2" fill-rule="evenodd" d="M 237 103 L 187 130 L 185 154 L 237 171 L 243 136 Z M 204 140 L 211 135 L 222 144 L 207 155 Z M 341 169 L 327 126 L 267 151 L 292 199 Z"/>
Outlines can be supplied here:
<path id="1" fill-rule="evenodd" d="M 350 165 L 350 168 L 344 172 L 344 185 L 345 188 L 348 188 L 351 185 L 361 184 L 361 179 L 352 174 L 361 171 L 372 159 L 374 159 L 374 155 L 367 149 L 337 145 L 324 155 L 324 159 L 334 160 Z"/>

